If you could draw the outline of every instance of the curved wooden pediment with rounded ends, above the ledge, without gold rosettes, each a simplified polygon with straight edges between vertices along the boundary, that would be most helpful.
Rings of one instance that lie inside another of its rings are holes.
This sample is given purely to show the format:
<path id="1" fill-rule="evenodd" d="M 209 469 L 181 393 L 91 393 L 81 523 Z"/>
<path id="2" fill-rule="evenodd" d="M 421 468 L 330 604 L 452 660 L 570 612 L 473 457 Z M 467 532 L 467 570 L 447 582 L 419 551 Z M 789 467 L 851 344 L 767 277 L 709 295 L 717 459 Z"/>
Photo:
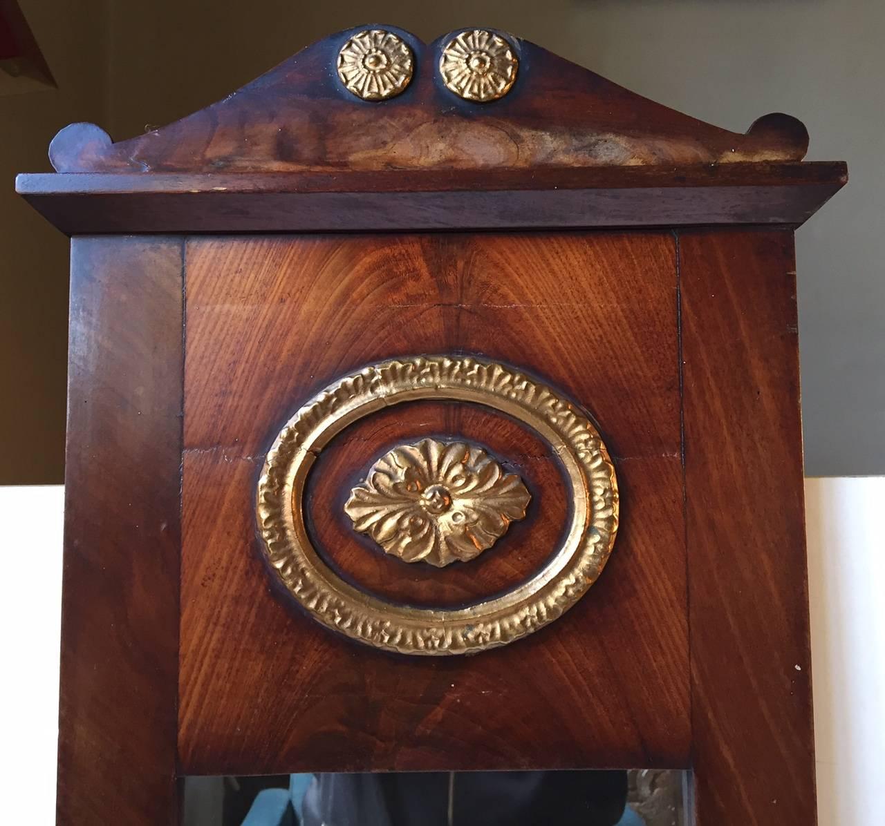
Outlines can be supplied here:
<path id="1" fill-rule="evenodd" d="M 403 94 L 366 103 L 342 88 L 338 51 L 364 27 L 332 34 L 219 103 L 129 141 L 73 124 L 50 147 L 58 172 L 341 172 L 563 166 L 691 166 L 797 161 L 808 134 L 774 113 L 747 134 L 667 109 L 502 33 L 519 57 L 511 92 L 494 103 L 443 87 L 439 52 L 396 27 L 414 53 Z M 187 82 L 186 79 L 182 79 Z"/>

